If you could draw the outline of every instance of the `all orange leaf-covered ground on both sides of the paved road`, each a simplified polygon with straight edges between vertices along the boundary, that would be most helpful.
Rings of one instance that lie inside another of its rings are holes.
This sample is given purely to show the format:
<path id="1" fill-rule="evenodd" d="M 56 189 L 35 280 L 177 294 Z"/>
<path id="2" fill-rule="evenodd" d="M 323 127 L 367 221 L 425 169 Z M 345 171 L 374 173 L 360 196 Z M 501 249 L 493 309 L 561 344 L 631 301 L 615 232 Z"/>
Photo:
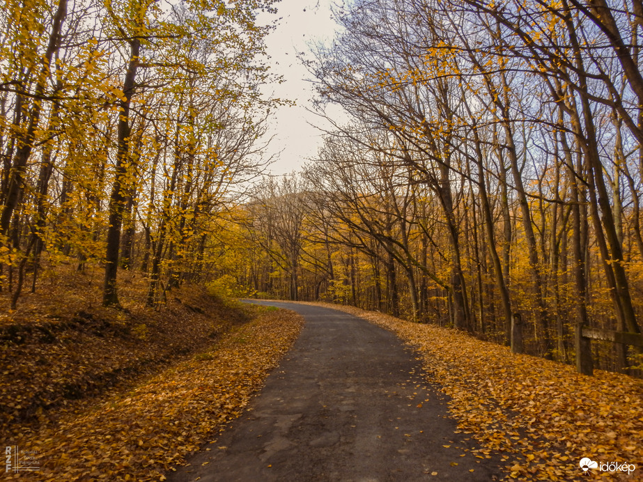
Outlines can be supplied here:
<path id="1" fill-rule="evenodd" d="M 294 343 L 302 319 L 206 290 L 145 306 L 146 282 L 119 279 L 123 309 L 100 306 L 100 272 L 57 272 L 9 311 L 0 293 L 0 441 L 38 472 L 24 480 L 164 480 L 238 417 Z M 634 464 L 643 480 L 643 382 L 479 341 L 453 329 L 322 304 L 396 333 L 442 386 L 459 430 L 500 453 L 511 479 L 586 480 L 579 461 Z M 592 478 L 591 477 L 591 478 Z M 590 479 L 591 479 L 590 478 Z"/>

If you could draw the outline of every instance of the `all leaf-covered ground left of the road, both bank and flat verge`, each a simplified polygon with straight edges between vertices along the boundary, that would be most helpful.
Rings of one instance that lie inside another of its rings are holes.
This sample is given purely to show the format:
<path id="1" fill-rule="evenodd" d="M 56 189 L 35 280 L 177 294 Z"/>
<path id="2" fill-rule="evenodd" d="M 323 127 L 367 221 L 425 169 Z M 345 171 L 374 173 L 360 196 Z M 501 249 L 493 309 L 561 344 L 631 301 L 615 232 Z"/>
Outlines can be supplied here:
<path id="1" fill-rule="evenodd" d="M 49 274 L 15 311 L 0 293 L 0 441 L 38 469 L 3 480 L 164 480 L 238 417 L 302 326 L 196 286 L 149 308 L 136 272 L 119 286 L 122 309 L 100 306 L 98 270 Z"/>

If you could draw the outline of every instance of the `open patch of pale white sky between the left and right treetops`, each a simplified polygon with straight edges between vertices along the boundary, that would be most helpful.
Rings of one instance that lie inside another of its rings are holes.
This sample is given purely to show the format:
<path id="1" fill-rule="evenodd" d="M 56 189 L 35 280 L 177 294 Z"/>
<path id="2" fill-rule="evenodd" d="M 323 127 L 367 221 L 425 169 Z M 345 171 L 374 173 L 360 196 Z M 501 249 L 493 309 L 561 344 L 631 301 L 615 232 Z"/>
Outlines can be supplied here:
<path id="1" fill-rule="evenodd" d="M 342 2 L 281 0 L 277 3 L 277 17 L 282 18 L 277 29 L 266 38 L 266 45 L 274 72 L 283 75 L 286 81 L 268 87 L 266 93 L 294 100 L 297 105 L 281 107 L 270 122 L 270 133 L 274 134 L 274 139 L 268 155 L 279 153 L 270 166 L 274 174 L 295 171 L 317 153 L 321 134 L 309 123 L 320 125 L 321 121 L 306 110 L 311 107 L 313 88 L 304 80 L 309 77 L 309 72 L 297 59 L 297 52 L 307 51 L 309 42 L 332 40 L 336 24 L 331 19 L 330 7 L 335 3 Z"/>

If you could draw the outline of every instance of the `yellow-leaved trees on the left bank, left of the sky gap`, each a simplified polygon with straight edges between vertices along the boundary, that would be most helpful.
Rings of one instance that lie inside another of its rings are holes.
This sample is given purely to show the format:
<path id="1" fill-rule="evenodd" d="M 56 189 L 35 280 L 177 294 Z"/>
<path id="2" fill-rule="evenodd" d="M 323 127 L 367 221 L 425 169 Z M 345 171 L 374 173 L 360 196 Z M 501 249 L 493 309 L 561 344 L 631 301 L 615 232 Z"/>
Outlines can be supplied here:
<path id="1" fill-rule="evenodd" d="M 203 281 L 237 185 L 267 159 L 279 99 L 263 63 L 272 0 L 11 1 L 0 12 L 0 289 L 100 263 L 148 278 L 149 306 Z"/>

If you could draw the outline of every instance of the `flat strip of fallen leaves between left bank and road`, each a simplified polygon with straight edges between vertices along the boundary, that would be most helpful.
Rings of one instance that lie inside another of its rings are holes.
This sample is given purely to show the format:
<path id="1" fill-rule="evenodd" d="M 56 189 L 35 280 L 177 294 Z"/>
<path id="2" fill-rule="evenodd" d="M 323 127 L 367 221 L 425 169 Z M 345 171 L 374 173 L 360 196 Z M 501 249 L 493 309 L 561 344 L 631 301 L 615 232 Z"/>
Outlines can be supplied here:
<path id="1" fill-rule="evenodd" d="M 241 414 L 301 327 L 293 312 L 264 311 L 221 336 L 207 357 L 192 357 L 126 396 L 13 444 L 38 451 L 39 480 L 162 480 Z"/>

